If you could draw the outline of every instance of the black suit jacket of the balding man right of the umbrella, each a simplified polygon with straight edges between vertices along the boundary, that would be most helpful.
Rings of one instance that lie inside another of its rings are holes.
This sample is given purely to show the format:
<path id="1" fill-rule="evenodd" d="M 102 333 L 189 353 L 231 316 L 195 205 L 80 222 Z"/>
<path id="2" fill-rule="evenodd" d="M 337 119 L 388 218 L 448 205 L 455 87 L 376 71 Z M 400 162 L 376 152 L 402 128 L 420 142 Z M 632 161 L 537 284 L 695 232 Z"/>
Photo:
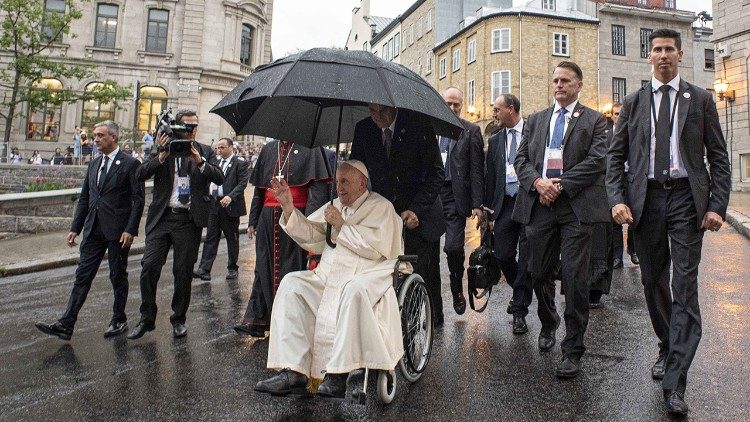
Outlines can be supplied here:
<path id="1" fill-rule="evenodd" d="M 456 208 L 469 217 L 473 208 L 481 208 L 484 190 L 484 140 L 479 126 L 460 119 L 464 131 L 451 149 L 451 188 Z"/>

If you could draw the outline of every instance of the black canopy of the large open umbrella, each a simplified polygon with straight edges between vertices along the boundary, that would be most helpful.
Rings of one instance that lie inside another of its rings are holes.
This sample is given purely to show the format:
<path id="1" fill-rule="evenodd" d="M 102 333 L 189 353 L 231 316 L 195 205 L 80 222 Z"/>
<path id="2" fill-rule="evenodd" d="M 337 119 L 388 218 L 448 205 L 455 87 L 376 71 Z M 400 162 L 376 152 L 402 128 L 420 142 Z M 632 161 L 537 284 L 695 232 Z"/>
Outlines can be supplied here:
<path id="1" fill-rule="evenodd" d="M 314 48 L 258 67 L 213 109 L 238 135 L 308 147 L 350 142 L 368 103 L 419 113 L 437 135 L 463 126 L 430 84 L 366 51 Z"/>

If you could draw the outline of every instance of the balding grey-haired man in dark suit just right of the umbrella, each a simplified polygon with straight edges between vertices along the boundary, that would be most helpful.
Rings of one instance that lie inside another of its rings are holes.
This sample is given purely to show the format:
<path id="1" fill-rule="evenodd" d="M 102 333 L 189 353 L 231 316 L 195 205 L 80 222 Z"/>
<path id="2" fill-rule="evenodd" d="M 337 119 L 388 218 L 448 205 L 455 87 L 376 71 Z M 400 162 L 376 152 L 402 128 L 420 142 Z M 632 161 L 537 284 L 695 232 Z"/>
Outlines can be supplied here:
<path id="1" fill-rule="evenodd" d="M 464 131 L 457 140 L 438 137 L 440 155 L 445 166 L 445 181 L 440 189 L 445 216 L 443 252 L 448 260 L 453 309 L 461 315 L 466 311 L 463 293 L 466 219 L 482 218 L 484 140 L 479 126 L 460 117 L 464 104 L 463 92 L 450 87 L 443 92 L 443 99 L 464 126 Z M 441 319 L 442 314 L 438 314 L 438 320 Z"/>

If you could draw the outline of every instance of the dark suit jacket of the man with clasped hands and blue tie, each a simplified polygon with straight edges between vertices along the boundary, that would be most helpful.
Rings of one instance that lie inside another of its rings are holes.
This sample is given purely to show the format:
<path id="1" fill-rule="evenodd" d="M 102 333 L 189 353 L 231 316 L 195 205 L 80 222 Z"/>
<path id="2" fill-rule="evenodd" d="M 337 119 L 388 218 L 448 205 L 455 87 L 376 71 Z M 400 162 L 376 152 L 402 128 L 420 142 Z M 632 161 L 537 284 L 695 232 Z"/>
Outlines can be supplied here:
<path id="1" fill-rule="evenodd" d="M 554 107 L 550 107 L 532 114 L 523 128 L 523 140 L 514 162 L 519 189 L 513 210 L 513 219 L 522 224 L 529 223 L 534 202 L 539 200 L 533 183 L 542 177 L 553 112 Z M 607 119 L 596 110 L 576 104 L 563 144 L 561 183 L 573 212 L 581 223 L 609 222 L 604 187 Z"/>

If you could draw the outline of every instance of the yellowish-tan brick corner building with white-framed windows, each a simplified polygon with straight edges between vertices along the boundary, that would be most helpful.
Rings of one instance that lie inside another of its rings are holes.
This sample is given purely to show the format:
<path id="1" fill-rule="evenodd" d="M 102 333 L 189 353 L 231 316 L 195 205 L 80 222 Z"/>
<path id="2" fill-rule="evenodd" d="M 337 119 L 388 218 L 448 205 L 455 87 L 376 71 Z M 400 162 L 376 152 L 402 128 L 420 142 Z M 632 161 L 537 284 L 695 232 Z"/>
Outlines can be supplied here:
<path id="1" fill-rule="evenodd" d="M 591 46 L 598 27 L 595 18 L 576 11 L 482 8 L 476 20 L 435 47 L 435 88 L 463 90 L 464 117 L 489 133 L 497 96 L 518 96 L 524 116 L 549 107 L 550 75 L 570 60 L 583 70 L 581 102 L 596 108 L 597 51 Z"/>

